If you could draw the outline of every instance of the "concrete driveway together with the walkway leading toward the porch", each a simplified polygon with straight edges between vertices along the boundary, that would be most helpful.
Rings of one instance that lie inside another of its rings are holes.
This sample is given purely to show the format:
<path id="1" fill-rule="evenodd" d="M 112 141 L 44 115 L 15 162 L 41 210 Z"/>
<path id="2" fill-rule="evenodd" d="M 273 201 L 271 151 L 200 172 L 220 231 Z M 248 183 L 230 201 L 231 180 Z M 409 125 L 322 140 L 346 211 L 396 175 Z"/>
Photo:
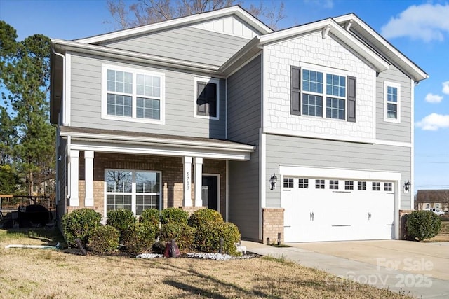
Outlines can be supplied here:
<path id="1" fill-rule="evenodd" d="M 277 248 L 243 241 L 248 251 L 286 258 L 337 277 L 415 298 L 449 298 L 449 242 L 351 241 L 289 243 Z M 338 284 L 338 279 L 329 281 Z"/>

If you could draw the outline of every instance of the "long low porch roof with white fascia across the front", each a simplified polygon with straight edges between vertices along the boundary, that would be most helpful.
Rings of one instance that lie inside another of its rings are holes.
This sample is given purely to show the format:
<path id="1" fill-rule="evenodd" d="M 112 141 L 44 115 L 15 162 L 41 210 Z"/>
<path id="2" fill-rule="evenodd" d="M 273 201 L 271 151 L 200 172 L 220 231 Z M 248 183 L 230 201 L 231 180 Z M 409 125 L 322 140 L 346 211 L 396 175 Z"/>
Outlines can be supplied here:
<path id="1" fill-rule="evenodd" d="M 164 134 L 125 132 L 82 127 L 60 127 L 70 137 L 70 149 L 107 153 L 198 156 L 225 160 L 249 160 L 255 146 L 234 141 Z"/>

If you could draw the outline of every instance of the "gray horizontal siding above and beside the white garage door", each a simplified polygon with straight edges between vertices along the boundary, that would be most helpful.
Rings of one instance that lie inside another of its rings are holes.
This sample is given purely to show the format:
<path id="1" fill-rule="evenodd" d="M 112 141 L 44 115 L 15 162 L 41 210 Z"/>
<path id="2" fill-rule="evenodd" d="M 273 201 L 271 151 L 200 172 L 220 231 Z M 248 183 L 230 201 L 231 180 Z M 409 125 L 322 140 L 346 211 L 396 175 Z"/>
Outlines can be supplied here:
<path id="1" fill-rule="evenodd" d="M 267 181 L 268 174 L 279 172 L 279 165 L 401 172 L 403 181 L 410 180 L 411 175 L 411 149 L 400 146 L 268 134 L 266 159 Z M 267 207 L 280 207 L 280 189 L 267 193 Z M 401 193 L 401 209 L 409 208 L 410 195 Z"/>

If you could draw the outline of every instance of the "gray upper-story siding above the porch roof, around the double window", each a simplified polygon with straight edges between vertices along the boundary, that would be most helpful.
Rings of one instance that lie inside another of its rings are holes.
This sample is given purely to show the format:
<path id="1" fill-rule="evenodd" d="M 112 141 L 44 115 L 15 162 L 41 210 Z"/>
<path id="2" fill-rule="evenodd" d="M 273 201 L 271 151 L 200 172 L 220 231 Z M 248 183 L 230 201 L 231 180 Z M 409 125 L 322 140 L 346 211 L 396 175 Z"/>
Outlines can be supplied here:
<path id="1" fill-rule="evenodd" d="M 152 132 L 189 137 L 225 138 L 225 80 L 220 80 L 220 120 L 194 117 L 194 74 L 169 69 L 135 66 L 165 74 L 166 124 L 135 123 L 101 118 L 101 64 L 116 63 L 98 57 L 72 55 L 71 125 L 106 130 Z"/>

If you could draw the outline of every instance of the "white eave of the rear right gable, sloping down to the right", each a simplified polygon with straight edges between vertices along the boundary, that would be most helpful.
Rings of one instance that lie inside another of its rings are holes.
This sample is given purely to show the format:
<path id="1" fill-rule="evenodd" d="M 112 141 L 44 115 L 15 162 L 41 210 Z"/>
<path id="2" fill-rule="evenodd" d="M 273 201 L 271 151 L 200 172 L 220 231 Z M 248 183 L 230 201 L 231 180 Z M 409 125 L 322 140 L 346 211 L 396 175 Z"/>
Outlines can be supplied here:
<path id="1" fill-rule="evenodd" d="M 395 64 L 398 69 L 401 69 L 404 74 L 410 76 L 413 81 L 419 82 L 429 78 L 429 75 L 425 71 L 408 59 L 406 55 L 403 55 L 401 51 L 391 45 L 389 41 L 384 39 L 373 28 L 366 24 L 366 22 L 363 22 L 358 18 L 356 14 L 349 13 L 347 15 L 341 15 L 340 17 L 333 18 L 333 20 L 341 26 L 346 27 L 348 32 L 351 32 L 354 36 L 361 37 L 361 39 L 366 41 L 369 46 L 382 53 L 382 55 L 387 57 L 392 64 Z"/>

